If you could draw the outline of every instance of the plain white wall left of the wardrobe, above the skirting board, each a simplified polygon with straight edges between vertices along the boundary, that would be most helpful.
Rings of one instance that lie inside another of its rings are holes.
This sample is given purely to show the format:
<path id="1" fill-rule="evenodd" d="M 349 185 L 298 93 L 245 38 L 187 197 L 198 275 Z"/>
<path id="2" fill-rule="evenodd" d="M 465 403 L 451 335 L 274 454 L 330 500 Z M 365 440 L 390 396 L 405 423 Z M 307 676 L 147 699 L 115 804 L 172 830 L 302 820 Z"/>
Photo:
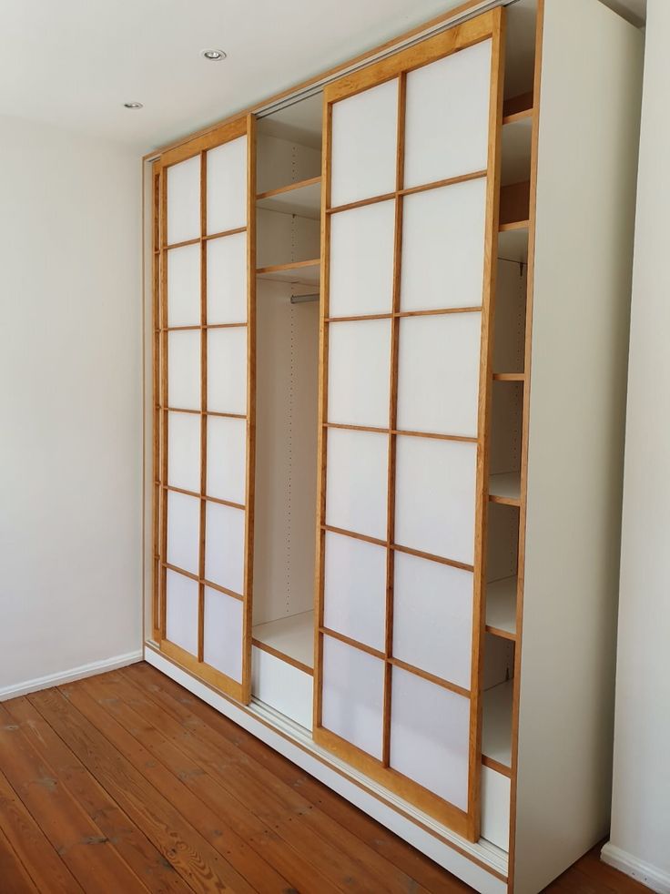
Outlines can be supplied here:
<path id="1" fill-rule="evenodd" d="M 137 152 L 0 117 L 0 697 L 140 647 Z"/>

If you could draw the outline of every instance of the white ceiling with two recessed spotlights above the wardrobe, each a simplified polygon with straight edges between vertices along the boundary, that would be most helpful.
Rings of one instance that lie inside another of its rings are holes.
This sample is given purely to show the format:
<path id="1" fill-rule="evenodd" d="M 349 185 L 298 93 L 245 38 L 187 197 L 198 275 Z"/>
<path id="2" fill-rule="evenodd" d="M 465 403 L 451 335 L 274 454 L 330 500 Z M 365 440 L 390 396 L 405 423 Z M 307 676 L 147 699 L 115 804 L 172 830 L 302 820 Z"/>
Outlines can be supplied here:
<path id="1" fill-rule="evenodd" d="M 459 2 L 0 0 L 0 114 L 148 151 Z M 644 21 L 646 0 L 604 2 Z M 208 47 L 228 59 L 206 62 Z"/>

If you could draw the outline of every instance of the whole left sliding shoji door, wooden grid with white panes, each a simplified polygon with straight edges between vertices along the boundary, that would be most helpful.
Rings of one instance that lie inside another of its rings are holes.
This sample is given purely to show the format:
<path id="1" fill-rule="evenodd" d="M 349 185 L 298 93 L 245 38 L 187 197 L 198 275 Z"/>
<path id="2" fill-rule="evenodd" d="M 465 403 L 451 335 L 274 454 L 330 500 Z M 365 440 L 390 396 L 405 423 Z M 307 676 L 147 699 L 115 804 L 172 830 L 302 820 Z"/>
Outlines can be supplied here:
<path id="1" fill-rule="evenodd" d="M 157 637 L 249 701 L 254 491 L 254 120 L 156 163 Z"/>

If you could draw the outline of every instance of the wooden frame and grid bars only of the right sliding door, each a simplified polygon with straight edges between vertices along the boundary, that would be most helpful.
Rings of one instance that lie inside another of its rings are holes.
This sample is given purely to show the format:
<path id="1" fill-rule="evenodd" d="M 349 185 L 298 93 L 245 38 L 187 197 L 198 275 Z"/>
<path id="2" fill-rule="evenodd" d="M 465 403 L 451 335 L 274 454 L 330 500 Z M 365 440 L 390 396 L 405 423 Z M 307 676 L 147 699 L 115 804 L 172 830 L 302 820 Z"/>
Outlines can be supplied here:
<path id="1" fill-rule="evenodd" d="M 448 178 L 435 183 L 405 189 L 404 172 L 404 113 L 405 85 L 408 72 L 435 62 L 444 56 L 473 46 L 476 43 L 492 38 L 492 61 L 490 80 L 489 106 L 489 139 L 488 163 L 485 171 L 473 172 L 457 178 Z M 443 35 L 424 41 L 420 46 L 411 47 L 391 60 L 384 60 L 378 65 L 369 66 L 353 76 L 345 76 L 324 90 L 323 116 L 323 164 L 321 186 L 321 305 L 320 305 L 320 417 L 319 417 L 319 482 L 317 498 L 317 571 L 315 587 L 315 686 L 314 686 L 314 740 L 328 748 L 350 764 L 376 778 L 386 787 L 417 804 L 425 812 L 438 818 L 454 828 L 459 834 L 470 840 L 477 840 L 480 834 L 480 778 L 481 778 L 481 743 L 482 743 L 482 701 L 480 697 L 482 682 L 482 643 L 484 635 L 485 612 L 485 543 L 488 507 L 488 467 L 489 467 L 489 430 L 490 405 L 492 392 L 492 334 L 490 332 L 495 294 L 495 262 L 497 256 L 497 238 L 499 226 L 500 196 L 500 154 L 501 127 L 503 121 L 503 68 L 504 68 L 504 15 L 502 8 L 488 14 L 478 16 L 464 25 L 458 25 Z M 398 78 L 398 132 L 396 159 L 396 188 L 392 193 L 384 194 L 336 208 L 330 207 L 330 162 L 332 106 L 340 99 L 354 96 L 365 89 Z M 452 185 L 474 178 L 487 178 L 486 191 L 486 224 L 484 245 L 484 270 L 482 306 L 477 308 L 457 308 L 445 310 L 401 311 L 401 242 L 402 242 L 402 207 L 404 196 L 422 192 L 431 188 Z M 330 317 L 330 218 L 333 213 L 350 208 L 359 208 L 385 200 L 395 200 L 395 236 L 393 257 L 393 292 L 391 312 L 384 314 L 361 314 L 353 317 Z M 480 353 L 478 432 L 476 438 L 463 438 L 433 434 L 429 432 L 402 432 L 397 427 L 397 391 L 398 391 L 398 347 L 400 320 L 403 317 L 430 315 L 452 312 L 481 312 L 482 334 Z M 391 320 L 391 381 L 389 428 L 366 427 L 360 425 L 343 425 L 328 422 L 328 353 L 329 330 L 331 323 L 344 320 Z M 389 437 L 389 465 L 387 481 L 387 538 L 386 541 L 363 534 L 344 531 L 326 524 L 326 469 L 327 443 L 330 428 L 350 429 L 355 431 L 371 431 L 385 433 Z M 465 441 L 477 443 L 476 473 L 476 510 L 474 531 L 474 564 L 467 565 L 453 561 L 444 556 L 421 553 L 408 547 L 394 543 L 395 529 L 395 473 L 397 436 L 431 437 L 446 441 Z M 372 544 L 378 544 L 387 550 L 386 559 L 386 619 L 385 648 L 379 650 L 361 644 L 350 637 L 340 635 L 324 626 L 324 583 L 325 583 L 325 535 L 327 531 L 344 534 Z M 392 653 L 392 613 L 393 613 L 393 574 L 394 556 L 396 552 L 418 555 L 432 561 L 449 564 L 473 573 L 473 611 L 472 611 L 472 671 L 469 691 L 454 686 L 446 680 L 426 674 L 419 668 L 399 662 Z M 323 686 L 323 639 L 329 635 L 339 639 L 362 652 L 384 661 L 384 688 L 382 714 L 382 757 L 372 757 L 359 747 L 342 739 L 322 726 L 322 686 Z M 443 800 L 409 777 L 390 766 L 391 747 L 391 675 L 394 666 L 410 671 L 415 676 L 428 679 L 431 683 L 444 686 L 462 696 L 470 698 L 470 742 L 468 772 L 468 809 L 463 811 Z"/>

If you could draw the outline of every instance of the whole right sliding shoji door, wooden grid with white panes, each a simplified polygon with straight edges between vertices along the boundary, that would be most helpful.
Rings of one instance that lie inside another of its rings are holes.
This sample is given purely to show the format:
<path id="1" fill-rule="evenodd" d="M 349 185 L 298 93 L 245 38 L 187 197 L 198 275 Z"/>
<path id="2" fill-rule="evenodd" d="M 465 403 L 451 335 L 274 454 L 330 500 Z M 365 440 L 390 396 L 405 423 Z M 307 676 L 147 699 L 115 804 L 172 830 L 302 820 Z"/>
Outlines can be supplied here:
<path id="1" fill-rule="evenodd" d="M 314 737 L 472 839 L 502 32 L 324 96 Z"/>

